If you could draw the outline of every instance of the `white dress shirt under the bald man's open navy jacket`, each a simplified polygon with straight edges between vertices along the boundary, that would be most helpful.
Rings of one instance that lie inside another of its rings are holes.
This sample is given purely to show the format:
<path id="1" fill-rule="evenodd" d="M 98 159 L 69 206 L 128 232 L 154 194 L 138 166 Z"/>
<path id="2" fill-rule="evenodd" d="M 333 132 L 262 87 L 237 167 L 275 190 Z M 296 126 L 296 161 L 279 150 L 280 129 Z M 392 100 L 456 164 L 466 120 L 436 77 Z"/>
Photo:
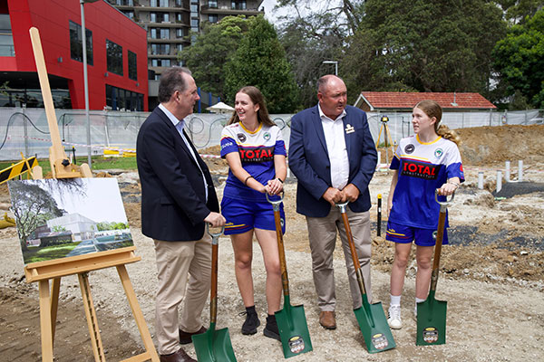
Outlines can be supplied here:
<path id="1" fill-rule="evenodd" d="M 333 187 L 342 190 L 347 185 L 349 178 L 349 160 L 347 148 L 345 148 L 345 131 L 342 121 L 345 117 L 345 110 L 333 120 L 325 116 L 319 104 L 317 104 L 317 108 L 325 132 L 326 149 L 331 163 L 331 183 Z"/>

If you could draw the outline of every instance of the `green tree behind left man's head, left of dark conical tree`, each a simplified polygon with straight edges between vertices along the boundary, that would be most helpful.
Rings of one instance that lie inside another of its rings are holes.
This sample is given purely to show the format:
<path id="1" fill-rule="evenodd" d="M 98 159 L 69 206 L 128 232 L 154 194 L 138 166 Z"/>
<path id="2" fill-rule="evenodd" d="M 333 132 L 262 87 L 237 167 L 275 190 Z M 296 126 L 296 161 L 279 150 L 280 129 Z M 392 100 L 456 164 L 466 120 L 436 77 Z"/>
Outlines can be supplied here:
<path id="1" fill-rule="evenodd" d="M 218 24 L 205 23 L 196 43 L 179 53 L 178 58 L 186 61 L 201 89 L 225 99 L 224 64 L 247 30 L 248 20 L 243 15 L 226 16 Z"/>

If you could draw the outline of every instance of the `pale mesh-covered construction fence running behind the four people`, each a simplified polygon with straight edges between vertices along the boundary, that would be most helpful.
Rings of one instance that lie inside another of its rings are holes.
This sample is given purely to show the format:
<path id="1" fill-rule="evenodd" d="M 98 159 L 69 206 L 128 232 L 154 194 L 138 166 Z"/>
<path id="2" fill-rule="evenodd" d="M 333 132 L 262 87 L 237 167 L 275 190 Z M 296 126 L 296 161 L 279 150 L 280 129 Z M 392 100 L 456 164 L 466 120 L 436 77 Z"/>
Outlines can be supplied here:
<path id="1" fill-rule="evenodd" d="M 87 117 L 84 110 L 55 110 L 60 137 L 66 150 L 75 149 L 76 156 L 87 155 Z M 481 126 L 530 125 L 543 123 L 543 110 L 524 111 L 471 111 L 444 112 L 442 122 L 451 129 Z M 136 148 L 136 137 L 149 112 L 91 110 L 89 113 L 91 150 L 93 156 L 104 151 Z M 274 114 L 270 117 L 282 129 L 288 148 L 290 122 L 293 114 Z M 382 117 L 393 143 L 413 134 L 410 112 L 369 112 L 368 120 L 374 141 L 381 136 L 384 143 Z M 219 146 L 221 130 L 228 122 L 228 114 L 197 113 L 186 119 L 190 138 L 202 153 L 206 148 Z M 383 132 L 383 131 L 382 131 Z M 21 152 L 25 157 L 49 157 L 51 138 L 44 109 L 0 108 L 0 160 L 17 160 Z"/>

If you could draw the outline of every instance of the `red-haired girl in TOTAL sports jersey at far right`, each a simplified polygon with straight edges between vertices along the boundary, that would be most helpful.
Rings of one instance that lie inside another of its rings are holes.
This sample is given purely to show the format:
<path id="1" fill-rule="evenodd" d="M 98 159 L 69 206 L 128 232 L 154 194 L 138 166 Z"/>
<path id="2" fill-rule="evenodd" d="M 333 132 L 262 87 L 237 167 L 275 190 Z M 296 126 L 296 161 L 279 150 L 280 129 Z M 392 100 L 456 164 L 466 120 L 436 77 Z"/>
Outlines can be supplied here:
<path id="1" fill-rule="evenodd" d="M 415 241 L 415 301 L 426 300 L 432 273 L 432 233 L 438 226 L 440 205 L 434 190 L 443 200 L 464 181 L 459 137 L 441 125 L 442 108 L 433 100 L 422 100 L 412 113 L 413 133 L 403 138 L 396 149 L 391 169 L 393 179 L 387 198 L 386 239 L 395 243 L 391 271 L 391 304 L 388 319 L 392 329 L 401 329 L 401 294 L 406 264 Z M 446 227 L 448 221 L 446 219 Z M 448 243 L 444 230 L 443 242 Z M 417 313 L 417 309 L 414 310 Z"/>

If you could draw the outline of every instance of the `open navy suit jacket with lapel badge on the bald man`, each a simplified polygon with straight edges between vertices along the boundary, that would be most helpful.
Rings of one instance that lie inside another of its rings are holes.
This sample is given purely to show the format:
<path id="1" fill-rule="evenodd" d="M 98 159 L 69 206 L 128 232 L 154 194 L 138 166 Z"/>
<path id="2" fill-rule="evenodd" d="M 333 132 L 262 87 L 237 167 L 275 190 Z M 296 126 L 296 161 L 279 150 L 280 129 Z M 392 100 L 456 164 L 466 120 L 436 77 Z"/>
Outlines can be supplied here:
<path id="1" fill-rule="evenodd" d="M 344 129 L 354 129 L 353 132 L 344 133 L 349 159 L 348 184 L 354 184 L 360 191 L 357 200 L 348 206 L 353 212 L 360 213 L 371 206 L 368 184 L 374 175 L 378 157 L 366 113 L 352 106 L 346 106 L 345 113 Z M 331 205 L 322 195 L 332 186 L 331 169 L 317 106 L 298 112 L 291 119 L 288 161 L 298 180 L 296 212 L 325 217 Z"/>

